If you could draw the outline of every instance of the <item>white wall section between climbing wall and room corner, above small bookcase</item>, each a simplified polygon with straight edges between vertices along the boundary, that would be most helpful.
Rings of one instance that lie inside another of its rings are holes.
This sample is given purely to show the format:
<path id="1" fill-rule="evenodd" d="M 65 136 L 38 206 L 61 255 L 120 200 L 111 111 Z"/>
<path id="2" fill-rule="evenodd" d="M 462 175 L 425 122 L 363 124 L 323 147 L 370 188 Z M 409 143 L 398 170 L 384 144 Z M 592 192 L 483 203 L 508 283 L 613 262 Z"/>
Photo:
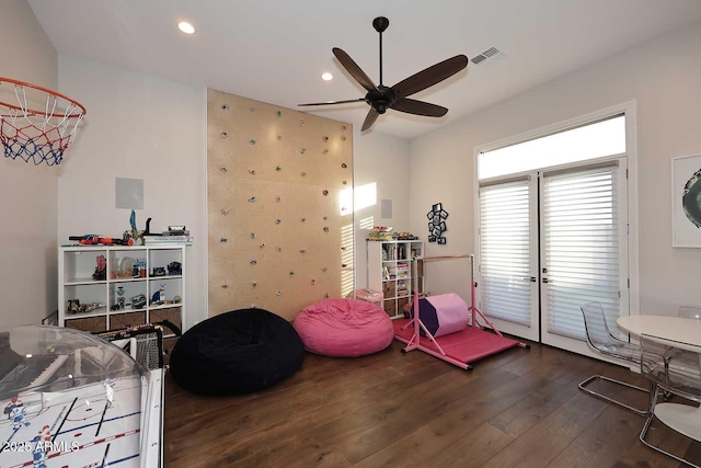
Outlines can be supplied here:
<path id="1" fill-rule="evenodd" d="M 391 226 L 394 231 L 409 229 L 409 142 L 401 138 L 367 133 L 359 134 L 355 128 L 354 141 L 354 181 L 356 189 L 355 210 L 355 282 L 356 288 L 366 287 L 368 278 L 366 238 L 367 227 Z M 372 193 L 371 184 L 377 185 L 375 197 L 369 205 L 359 208 L 364 196 Z M 382 218 L 381 201 L 392 202 L 392 217 Z"/>

